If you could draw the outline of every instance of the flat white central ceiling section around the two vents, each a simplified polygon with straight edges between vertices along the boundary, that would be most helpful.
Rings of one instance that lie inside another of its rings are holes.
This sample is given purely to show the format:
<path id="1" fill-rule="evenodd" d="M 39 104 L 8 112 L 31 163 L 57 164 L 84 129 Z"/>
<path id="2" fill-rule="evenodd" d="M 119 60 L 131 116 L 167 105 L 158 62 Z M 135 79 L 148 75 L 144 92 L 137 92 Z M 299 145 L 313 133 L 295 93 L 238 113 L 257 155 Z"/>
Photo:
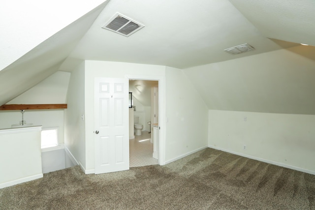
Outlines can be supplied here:
<path id="1" fill-rule="evenodd" d="M 129 37 L 102 29 L 116 12 L 145 27 Z M 237 56 L 223 52 L 244 43 L 256 50 Z M 115 0 L 69 57 L 187 68 L 294 45 L 262 35 L 228 0 Z"/>

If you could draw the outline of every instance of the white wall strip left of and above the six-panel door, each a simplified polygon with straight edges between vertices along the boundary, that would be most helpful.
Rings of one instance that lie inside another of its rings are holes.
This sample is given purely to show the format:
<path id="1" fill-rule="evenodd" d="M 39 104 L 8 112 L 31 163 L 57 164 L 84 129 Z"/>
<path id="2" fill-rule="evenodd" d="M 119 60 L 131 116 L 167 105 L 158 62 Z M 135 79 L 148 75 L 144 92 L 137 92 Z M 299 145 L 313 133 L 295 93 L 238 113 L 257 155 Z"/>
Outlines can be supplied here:
<path id="1" fill-rule="evenodd" d="M 86 127 L 86 173 L 93 173 L 95 168 L 94 157 L 94 78 L 111 77 L 126 78 L 126 75 L 146 75 L 148 77 L 164 77 L 165 66 L 108 62 L 85 61 L 85 127 Z M 141 79 L 141 78 L 137 78 Z"/>

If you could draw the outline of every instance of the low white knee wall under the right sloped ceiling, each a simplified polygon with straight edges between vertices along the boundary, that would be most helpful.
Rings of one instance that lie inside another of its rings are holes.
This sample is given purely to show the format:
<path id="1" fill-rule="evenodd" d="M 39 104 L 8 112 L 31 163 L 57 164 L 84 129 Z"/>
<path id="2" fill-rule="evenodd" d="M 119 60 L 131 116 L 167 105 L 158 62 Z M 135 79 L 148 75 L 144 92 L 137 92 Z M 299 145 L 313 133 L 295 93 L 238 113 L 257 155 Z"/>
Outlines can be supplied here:
<path id="1" fill-rule="evenodd" d="M 208 141 L 212 148 L 315 174 L 314 128 L 315 115 L 209 110 Z"/>

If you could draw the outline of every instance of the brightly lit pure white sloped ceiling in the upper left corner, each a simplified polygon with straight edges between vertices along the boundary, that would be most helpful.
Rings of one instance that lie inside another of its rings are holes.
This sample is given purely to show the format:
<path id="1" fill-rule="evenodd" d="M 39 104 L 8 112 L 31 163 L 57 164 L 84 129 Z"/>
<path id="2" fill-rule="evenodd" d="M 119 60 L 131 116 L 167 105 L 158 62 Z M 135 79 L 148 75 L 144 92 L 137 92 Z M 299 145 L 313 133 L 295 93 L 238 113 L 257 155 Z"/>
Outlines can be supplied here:
<path id="1" fill-rule="evenodd" d="M 1 0 L 0 70 L 103 2 Z"/>

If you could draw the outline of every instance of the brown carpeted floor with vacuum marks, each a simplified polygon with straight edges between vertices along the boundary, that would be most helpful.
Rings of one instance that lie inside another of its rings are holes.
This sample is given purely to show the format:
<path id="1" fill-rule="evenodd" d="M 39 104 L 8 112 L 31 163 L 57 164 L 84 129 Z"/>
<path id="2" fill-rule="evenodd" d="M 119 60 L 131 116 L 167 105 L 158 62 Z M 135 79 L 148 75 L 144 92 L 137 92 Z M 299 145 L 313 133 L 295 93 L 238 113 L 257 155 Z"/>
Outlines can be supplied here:
<path id="1" fill-rule="evenodd" d="M 205 149 L 165 166 L 78 166 L 0 189 L 1 210 L 315 210 L 315 176 Z"/>

